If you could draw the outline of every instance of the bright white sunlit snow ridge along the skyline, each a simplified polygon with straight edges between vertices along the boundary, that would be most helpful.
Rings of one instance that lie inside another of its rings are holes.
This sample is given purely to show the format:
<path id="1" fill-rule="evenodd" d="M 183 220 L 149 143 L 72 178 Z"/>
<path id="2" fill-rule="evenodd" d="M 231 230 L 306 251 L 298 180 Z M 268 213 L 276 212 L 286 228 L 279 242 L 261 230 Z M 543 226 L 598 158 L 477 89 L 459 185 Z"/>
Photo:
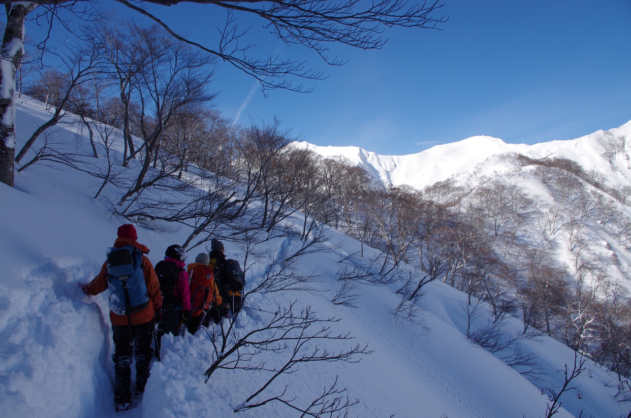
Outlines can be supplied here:
<path id="1" fill-rule="evenodd" d="M 378 155 L 358 146 L 318 146 L 306 141 L 297 142 L 296 145 L 323 157 L 348 158 L 386 184 L 408 184 L 416 189 L 423 189 L 449 177 L 466 177 L 467 173 L 470 174 L 480 165 L 487 165 L 490 170 L 510 170 L 510 164 L 502 163 L 500 158 L 510 153 L 534 159 L 567 158 L 580 164 L 586 171 L 599 170 L 612 182 L 611 186 L 629 186 L 631 145 L 626 141 L 630 137 L 631 121 L 619 128 L 597 131 L 575 140 L 525 145 L 505 143 L 491 136 L 472 136 L 410 155 Z M 611 148 L 615 147 L 618 140 L 623 142 L 623 160 L 627 164 L 615 164 L 603 157 L 603 154 L 613 151 Z"/>

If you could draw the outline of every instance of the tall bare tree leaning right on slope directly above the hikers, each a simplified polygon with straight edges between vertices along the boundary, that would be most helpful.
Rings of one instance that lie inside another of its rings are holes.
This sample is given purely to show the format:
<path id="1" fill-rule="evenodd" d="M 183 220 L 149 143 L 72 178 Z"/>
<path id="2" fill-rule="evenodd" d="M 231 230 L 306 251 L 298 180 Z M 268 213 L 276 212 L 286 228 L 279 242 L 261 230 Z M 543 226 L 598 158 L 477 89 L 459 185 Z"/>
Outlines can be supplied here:
<path id="1" fill-rule="evenodd" d="M 134 26 L 125 30 L 127 32 L 124 33 L 128 35 L 126 42 L 138 42 L 148 58 L 143 61 L 142 71 L 134 73 L 131 80 L 132 95 L 140 104 L 138 131 L 143 142 L 136 152 L 142 151 L 142 158 L 138 174 L 129 179 L 127 191 L 119 200 L 116 210 L 122 215 L 134 212 L 134 200 L 144 189 L 168 187 L 165 184 L 165 181 L 168 182 L 167 177 L 181 170 L 186 152 L 182 148 L 170 155 L 160 153 L 168 129 L 177 121 L 179 114 L 202 109 L 215 97 L 209 90 L 212 77 L 209 56 L 174 41 L 157 27 Z M 138 32 L 134 33 L 134 30 Z M 103 45 L 108 51 L 120 46 L 106 42 Z M 108 53 L 115 54 L 115 51 Z M 129 110 L 129 107 L 124 105 L 124 109 Z M 127 135 L 126 132 L 124 134 Z M 158 160 L 162 162 L 160 167 Z"/>

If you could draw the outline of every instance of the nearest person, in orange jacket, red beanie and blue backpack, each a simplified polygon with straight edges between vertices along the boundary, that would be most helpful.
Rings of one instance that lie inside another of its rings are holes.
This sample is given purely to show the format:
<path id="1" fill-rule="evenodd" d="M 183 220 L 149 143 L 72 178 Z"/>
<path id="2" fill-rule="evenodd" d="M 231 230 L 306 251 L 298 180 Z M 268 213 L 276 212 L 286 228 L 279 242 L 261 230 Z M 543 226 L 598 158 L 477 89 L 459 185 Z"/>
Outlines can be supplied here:
<path id="1" fill-rule="evenodd" d="M 131 361 L 136 359 L 136 393 L 144 392 L 149 378 L 153 318 L 162 306 L 162 294 L 149 249 L 136 242 L 134 225 L 122 225 L 107 261 L 89 284 L 80 284 L 88 296 L 109 290 L 110 321 L 114 333 L 114 403 L 116 410 L 131 407 Z"/>

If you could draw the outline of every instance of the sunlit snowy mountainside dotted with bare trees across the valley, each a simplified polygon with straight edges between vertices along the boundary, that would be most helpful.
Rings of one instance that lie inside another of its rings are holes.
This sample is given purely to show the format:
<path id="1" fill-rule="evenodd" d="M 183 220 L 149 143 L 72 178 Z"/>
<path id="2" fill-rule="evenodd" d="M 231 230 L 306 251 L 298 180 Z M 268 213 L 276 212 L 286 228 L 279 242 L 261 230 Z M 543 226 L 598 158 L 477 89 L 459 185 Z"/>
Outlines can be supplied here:
<path id="1" fill-rule="evenodd" d="M 402 157 L 298 146 L 345 155 L 389 185 L 363 218 L 380 224 L 367 242 L 394 264 L 488 302 L 496 319 L 520 311 L 524 330 L 628 376 L 630 130 L 533 146 L 474 137 Z"/>

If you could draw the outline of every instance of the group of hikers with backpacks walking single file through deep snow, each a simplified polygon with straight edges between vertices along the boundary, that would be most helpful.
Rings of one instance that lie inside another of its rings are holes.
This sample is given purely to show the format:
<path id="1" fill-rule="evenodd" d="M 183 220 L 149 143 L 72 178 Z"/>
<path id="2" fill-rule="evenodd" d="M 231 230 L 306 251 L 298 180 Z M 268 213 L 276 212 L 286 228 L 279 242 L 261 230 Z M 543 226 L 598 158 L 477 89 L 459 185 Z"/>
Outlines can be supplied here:
<path id="1" fill-rule="evenodd" d="M 159 357 L 165 333 L 196 333 L 210 321 L 220 323 L 237 314 L 244 295 L 244 274 L 235 260 L 227 260 L 221 241 L 211 241 L 210 253 L 200 253 L 186 265 L 186 251 L 174 244 L 155 268 L 145 255 L 132 224 L 119 227 L 114 246 L 100 273 L 80 284 L 88 296 L 108 290 L 114 335 L 115 409 L 131 407 L 131 363 L 136 360 L 136 392 L 144 393 L 151 359 Z M 154 342 L 155 350 L 151 347 Z"/>

